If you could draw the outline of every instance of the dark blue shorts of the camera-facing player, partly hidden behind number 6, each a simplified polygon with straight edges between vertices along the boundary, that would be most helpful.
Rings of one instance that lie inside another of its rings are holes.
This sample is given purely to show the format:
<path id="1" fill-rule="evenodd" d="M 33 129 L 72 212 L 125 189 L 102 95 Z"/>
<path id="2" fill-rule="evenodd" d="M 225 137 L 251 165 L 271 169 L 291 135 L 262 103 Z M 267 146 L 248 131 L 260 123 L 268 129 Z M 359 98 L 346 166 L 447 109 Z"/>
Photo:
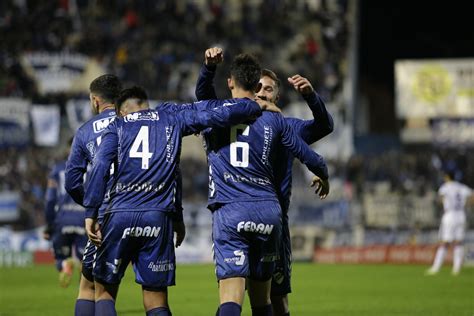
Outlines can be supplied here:
<path id="1" fill-rule="evenodd" d="M 291 238 L 288 225 L 288 211 L 282 212 L 279 258 L 272 277 L 271 296 L 291 293 Z"/>

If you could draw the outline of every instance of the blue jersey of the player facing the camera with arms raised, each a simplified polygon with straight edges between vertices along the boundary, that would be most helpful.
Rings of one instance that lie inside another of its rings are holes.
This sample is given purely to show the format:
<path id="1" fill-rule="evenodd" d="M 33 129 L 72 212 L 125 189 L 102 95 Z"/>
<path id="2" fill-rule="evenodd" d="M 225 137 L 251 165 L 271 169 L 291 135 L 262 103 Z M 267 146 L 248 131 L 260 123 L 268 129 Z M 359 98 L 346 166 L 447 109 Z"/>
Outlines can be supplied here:
<path id="1" fill-rule="evenodd" d="M 213 86 L 216 67 L 204 65 L 199 73 L 196 83 L 196 97 L 198 100 L 216 99 Z M 321 138 L 329 135 L 334 129 L 334 122 L 331 114 L 326 110 L 326 106 L 321 97 L 313 92 L 303 96 L 313 113 L 312 120 L 301 120 L 298 118 L 285 118 L 286 122 L 307 144 L 313 144 Z M 284 146 L 277 145 L 275 151 L 278 152 L 279 159 L 273 165 L 274 185 L 276 187 L 278 199 L 282 205 L 282 210 L 288 210 L 291 197 L 291 181 L 293 155 Z"/>

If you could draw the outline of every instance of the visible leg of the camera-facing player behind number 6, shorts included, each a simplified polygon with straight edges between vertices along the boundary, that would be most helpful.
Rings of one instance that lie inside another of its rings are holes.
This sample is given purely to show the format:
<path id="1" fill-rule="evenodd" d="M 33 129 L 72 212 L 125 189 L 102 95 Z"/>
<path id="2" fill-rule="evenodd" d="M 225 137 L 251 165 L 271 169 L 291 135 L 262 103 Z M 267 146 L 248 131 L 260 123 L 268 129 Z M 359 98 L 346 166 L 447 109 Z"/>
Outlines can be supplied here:
<path id="1" fill-rule="evenodd" d="M 274 316 L 289 316 L 288 294 L 291 293 L 291 237 L 288 212 L 282 211 L 279 258 L 272 277 L 271 301 Z"/>

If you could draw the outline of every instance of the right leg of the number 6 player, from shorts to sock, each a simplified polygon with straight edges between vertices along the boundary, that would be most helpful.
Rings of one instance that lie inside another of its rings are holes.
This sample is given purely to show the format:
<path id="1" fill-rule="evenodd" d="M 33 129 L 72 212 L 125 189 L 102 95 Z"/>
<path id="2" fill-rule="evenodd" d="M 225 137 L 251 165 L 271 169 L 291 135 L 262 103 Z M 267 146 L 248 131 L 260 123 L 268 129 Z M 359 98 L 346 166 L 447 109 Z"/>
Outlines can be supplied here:
<path id="1" fill-rule="evenodd" d="M 252 316 L 271 316 L 270 290 L 281 238 L 281 209 L 274 202 L 257 202 L 254 207 L 250 221 L 257 229 L 250 240 L 248 294 Z"/>

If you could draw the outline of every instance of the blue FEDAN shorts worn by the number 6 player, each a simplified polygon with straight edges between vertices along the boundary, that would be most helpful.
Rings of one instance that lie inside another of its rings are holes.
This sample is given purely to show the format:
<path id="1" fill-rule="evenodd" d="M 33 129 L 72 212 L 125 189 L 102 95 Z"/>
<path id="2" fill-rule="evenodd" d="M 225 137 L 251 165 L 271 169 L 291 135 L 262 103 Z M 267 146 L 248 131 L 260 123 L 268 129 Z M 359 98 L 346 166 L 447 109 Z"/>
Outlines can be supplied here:
<path id="1" fill-rule="evenodd" d="M 278 257 L 281 209 L 278 202 L 229 203 L 212 214 L 218 280 L 269 280 Z"/>

